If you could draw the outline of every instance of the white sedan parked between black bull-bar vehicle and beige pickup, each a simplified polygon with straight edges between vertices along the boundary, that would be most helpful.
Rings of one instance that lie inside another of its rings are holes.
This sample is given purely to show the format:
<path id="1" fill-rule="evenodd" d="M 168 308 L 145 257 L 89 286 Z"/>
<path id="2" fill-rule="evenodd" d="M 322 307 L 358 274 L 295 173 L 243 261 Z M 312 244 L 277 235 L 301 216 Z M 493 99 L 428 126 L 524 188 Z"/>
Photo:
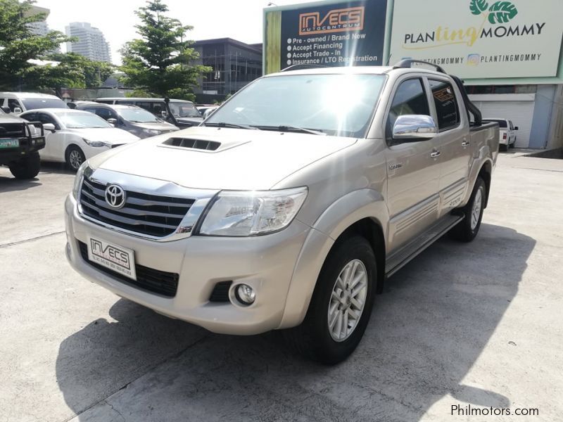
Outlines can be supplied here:
<path id="1" fill-rule="evenodd" d="M 21 117 L 43 124 L 46 146 L 39 152 L 41 159 L 65 162 L 71 170 L 96 154 L 139 139 L 82 110 L 43 108 Z"/>

